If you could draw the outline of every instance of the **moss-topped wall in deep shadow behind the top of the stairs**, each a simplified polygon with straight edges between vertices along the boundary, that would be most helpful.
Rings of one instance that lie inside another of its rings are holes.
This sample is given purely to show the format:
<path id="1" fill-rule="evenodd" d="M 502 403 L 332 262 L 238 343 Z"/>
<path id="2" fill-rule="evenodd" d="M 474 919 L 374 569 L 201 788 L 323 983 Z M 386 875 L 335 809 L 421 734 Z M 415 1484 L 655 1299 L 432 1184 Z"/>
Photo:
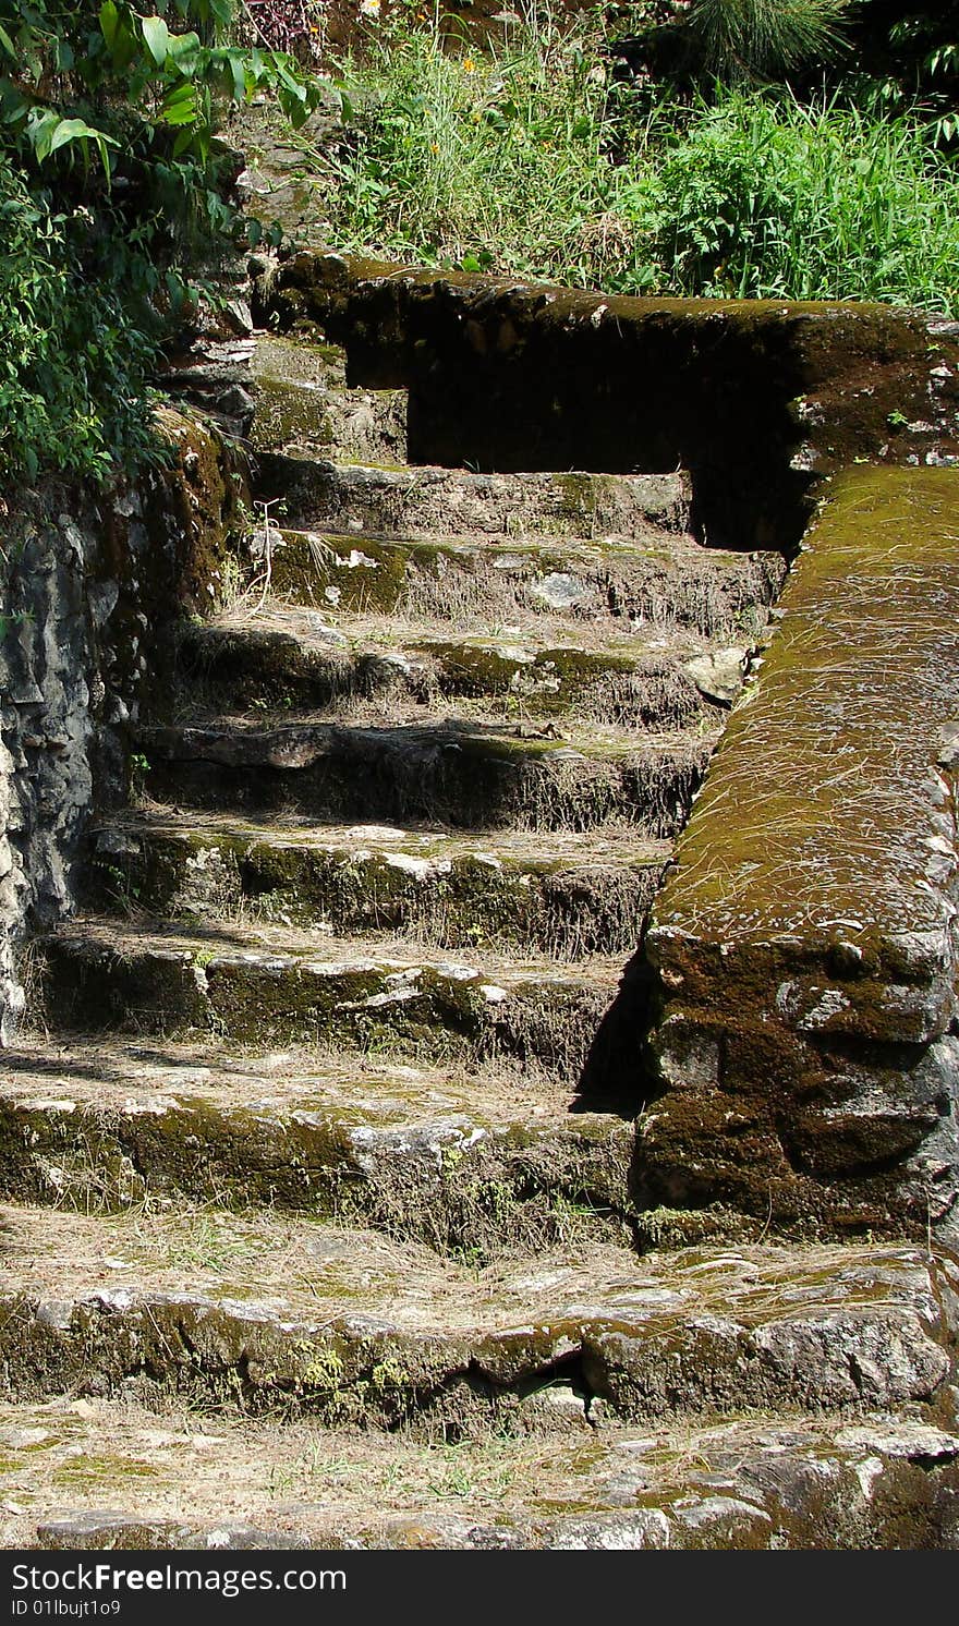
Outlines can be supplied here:
<path id="1" fill-rule="evenodd" d="M 413 462 L 689 468 L 705 541 L 798 545 L 809 488 L 857 457 L 959 452 L 959 324 L 886 306 L 636 299 L 340 255 L 260 278 L 349 380 L 410 390 Z"/>

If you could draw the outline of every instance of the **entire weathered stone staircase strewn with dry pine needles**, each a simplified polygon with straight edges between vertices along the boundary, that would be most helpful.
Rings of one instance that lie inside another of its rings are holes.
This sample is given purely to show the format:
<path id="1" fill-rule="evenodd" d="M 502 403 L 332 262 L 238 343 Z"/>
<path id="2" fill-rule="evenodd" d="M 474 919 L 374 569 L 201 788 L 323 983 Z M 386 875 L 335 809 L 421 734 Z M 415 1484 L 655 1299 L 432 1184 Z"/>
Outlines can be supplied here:
<path id="1" fill-rule="evenodd" d="M 3 1541 L 956 1545 L 952 1263 L 637 1200 L 623 972 L 782 556 L 241 348 L 249 559 L 5 1052 Z"/>

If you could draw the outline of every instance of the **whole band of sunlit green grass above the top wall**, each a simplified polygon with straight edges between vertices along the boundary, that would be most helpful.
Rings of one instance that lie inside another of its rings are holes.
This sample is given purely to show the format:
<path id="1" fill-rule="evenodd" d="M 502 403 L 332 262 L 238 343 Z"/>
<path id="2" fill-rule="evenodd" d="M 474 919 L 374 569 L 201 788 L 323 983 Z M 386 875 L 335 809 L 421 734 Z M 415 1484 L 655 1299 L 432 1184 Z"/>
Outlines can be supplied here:
<path id="1" fill-rule="evenodd" d="M 325 174 L 353 252 L 610 293 L 886 299 L 959 312 L 959 171 L 922 122 L 787 91 L 679 107 L 610 86 L 600 36 L 429 29 L 341 65 Z"/>

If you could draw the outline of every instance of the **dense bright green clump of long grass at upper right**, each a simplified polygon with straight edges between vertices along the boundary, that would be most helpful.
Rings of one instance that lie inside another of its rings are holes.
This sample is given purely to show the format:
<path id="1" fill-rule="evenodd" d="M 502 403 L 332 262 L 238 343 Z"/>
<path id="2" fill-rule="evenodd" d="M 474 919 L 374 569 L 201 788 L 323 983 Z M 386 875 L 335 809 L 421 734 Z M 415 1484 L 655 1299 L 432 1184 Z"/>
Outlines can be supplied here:
<path id="1" fill-rule="evenodd" d="M 733 93 L 668 145 L 658 195 L 678 293 L 959 309 L 959 176 L 909 119 Z"/>

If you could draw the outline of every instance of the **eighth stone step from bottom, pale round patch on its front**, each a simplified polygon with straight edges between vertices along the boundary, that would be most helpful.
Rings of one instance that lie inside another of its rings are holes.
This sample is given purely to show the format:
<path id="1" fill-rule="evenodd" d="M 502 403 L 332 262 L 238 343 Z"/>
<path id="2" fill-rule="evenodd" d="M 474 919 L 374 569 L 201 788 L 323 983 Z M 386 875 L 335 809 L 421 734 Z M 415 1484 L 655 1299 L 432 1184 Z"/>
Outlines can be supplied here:
<path id="1" fill-rule="evenodd" d="M 510 628 L 532 618 L 601 621 L 639 633 L 689 628 L 749 642 L 785 579 L 779 553 L 723 553 L 662 532 L 632 543 L 465 538 L 447 515 L 434 538 L 335 535 L 262 525 L 257 580 L 322 610 L 431 618 L 452 629 Z"/>

